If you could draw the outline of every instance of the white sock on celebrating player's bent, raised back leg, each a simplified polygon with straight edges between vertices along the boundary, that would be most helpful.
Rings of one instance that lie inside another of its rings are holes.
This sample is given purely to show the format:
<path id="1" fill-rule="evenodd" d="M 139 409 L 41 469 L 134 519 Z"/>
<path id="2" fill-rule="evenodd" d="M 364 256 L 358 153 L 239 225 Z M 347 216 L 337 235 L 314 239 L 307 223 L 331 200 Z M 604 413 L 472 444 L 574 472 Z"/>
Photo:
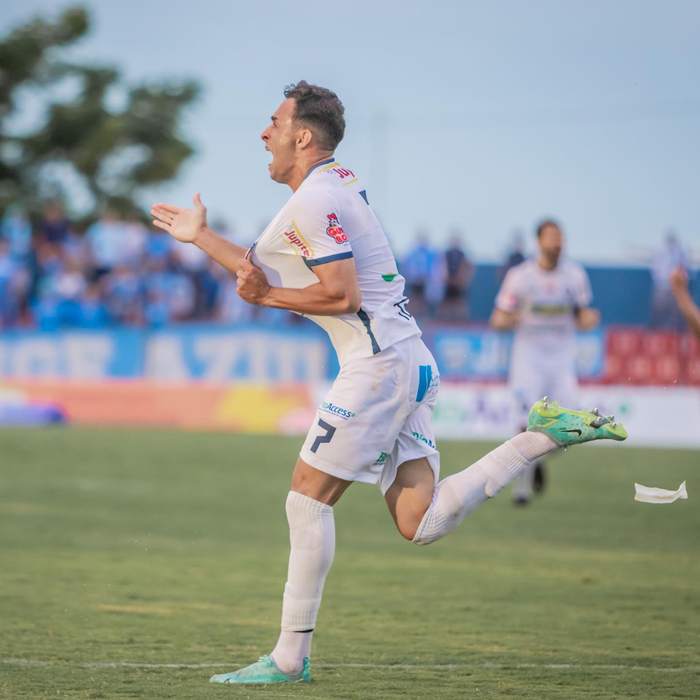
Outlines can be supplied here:
<path id="1" fill-rule="evenodd" d="M 449 535 L 466 516 L 493 498 L 507 483 L 556 443 L 540 432 L 521 432 L 463 472 L 435 486 L 433 502 L 423 516 L 415 544 L 430 544 Z"/>

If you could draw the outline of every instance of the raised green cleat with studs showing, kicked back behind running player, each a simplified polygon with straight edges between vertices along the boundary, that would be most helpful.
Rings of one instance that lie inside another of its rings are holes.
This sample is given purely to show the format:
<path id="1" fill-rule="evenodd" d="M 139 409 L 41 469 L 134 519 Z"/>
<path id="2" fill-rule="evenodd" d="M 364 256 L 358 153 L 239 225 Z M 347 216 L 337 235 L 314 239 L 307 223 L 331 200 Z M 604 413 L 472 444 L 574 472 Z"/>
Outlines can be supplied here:
<path id="1" fill-rule="evenodd" d="M 561 447 L 591 440 L 624 440 L 627 437 L 622 423 L 615 423 L 615 416 L 602 416 L 598 409 L 563 409 L 556 401 L 549 401 L 546 396 L 535 402 L 530 409 L 527 429 L 543 432 Z"/>

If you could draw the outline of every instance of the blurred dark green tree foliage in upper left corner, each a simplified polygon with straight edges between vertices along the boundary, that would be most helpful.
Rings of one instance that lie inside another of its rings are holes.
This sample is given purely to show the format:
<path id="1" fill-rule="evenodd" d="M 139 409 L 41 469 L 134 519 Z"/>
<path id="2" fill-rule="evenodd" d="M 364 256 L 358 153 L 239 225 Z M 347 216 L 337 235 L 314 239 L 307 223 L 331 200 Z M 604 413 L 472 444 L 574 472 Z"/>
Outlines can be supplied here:
<path id="1" fill-rule="evenodd" d="M 0 39 L 0 213 L 13 203 L 36 212 L 56 197 L 87 217 L 107 205 L 134 212 L 139 188 L 172 179 L 193 153 L 179 125 L 199 85 L 127 85 L 114 67 L 62 60 L 89 29 L 75 7 Z M 29 97 L 45 107 L 38 128 L 23 128 Z"/>

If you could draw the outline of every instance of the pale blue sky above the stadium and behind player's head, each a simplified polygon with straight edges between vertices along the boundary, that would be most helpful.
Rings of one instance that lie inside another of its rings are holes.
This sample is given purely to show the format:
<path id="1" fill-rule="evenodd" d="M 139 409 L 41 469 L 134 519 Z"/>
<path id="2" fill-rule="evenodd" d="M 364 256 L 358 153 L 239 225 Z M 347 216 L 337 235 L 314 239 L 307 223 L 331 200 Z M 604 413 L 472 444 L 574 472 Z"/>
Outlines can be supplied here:
<path id="1" fill-rule="evenodd" d="M 6 32 L 66 4 L 3 6 Z M 700 3 L 694 0 L 93 0 L 72 57 L 131 81 L 197 78 L 197 155 L 153 200 L 190 202 L 241 241 L 290 191 L 259 135 L 287 83 L 332 88 L 337 150 L 397 253 L 458 226 L 475 258 L 563 222 L 582 261 L 641 259 L 672 227 L 700 253 Z M 150 203 L 151 195 L 146 197 Z"/>

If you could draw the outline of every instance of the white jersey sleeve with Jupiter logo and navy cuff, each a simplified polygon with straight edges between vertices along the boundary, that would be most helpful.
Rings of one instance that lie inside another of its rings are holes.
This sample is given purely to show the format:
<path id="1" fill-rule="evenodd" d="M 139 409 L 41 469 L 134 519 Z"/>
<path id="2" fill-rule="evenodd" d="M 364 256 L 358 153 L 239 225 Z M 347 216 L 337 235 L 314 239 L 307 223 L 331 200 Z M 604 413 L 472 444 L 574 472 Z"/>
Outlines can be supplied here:
<path id="1" fill-rule="evenodd" d="M 304 247 L 302 255 L 307 267 L 353 256 L 332 195 L 317 190 L 297 193 L 288 216 L 289 230 L 296 233 L 299 245 Z"/>

